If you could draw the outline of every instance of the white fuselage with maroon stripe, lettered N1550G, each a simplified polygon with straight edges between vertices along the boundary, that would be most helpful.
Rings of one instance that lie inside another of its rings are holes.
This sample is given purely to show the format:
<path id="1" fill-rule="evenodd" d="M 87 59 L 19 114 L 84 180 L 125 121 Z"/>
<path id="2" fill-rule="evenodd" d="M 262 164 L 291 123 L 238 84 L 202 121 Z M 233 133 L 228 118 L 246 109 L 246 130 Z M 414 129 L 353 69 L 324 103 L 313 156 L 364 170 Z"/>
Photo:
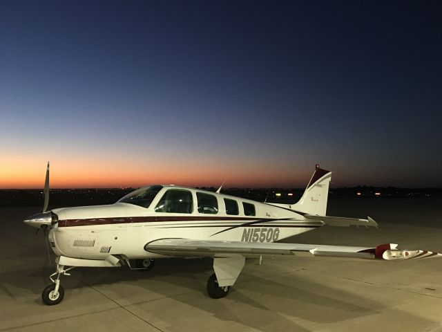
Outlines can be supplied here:
<path id="1" fill-rule="evenodd" d="M 158 212 L 162 196 L 171 189 L 191 194 L 189 213 Z M 211 199 L 214 196 L 216 210 L 204 211 L 197 194 L 211 195 Z M 226 204 L 231 201 L 238 205 L 234 213 L 227 211 Z M 247 209 L 254 206 L 254 215 L 246 215 L 251 212 L 246 211 L 244 203 Z M 163 186 L 148 208 L 119 201 L 52 212 L 58 216 L 58 223 L 49 232 L 52 250 L 56 255 L 81 259 L 106 259 L 109 255 L 126 259 L 164 257 L 144 250 L 146 243 L 157 239 L 273 242 L 323 225 L 289 208 L 175 186 Z"/>

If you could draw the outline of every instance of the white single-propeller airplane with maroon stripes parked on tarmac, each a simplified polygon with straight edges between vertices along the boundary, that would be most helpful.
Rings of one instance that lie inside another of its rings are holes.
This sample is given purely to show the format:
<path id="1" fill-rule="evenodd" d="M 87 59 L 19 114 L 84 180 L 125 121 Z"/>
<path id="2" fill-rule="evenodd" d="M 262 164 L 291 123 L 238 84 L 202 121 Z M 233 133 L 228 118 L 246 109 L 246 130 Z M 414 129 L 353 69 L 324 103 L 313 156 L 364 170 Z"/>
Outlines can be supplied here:
<path id="1" fill-rule="evenodd" d="M 151 270 L 155 259 L 211 257 L 214 273 L 208 295 L 225 297 L 241 273 L 246 257 L 307 255 L 397 261 L 442 257 L 425 250 L 402 250 L 394 243 L 376 247 L 282 243 L 296 234 L 329 226 L 377 227 L 372 218 L 327 216 L 332 172 L 316 165 L 294 204 L 260 203 L 250 199 L 175 185 L 141 187 L 111 205 L 57 208 L 47 211 L 49 163 L 44 209 L 23 222 L 47 234 L 56 255 L 52 284 L 44 288 L 44 304 L 64 298 L 61 275 L 77 267 L 128 266 Z"/>

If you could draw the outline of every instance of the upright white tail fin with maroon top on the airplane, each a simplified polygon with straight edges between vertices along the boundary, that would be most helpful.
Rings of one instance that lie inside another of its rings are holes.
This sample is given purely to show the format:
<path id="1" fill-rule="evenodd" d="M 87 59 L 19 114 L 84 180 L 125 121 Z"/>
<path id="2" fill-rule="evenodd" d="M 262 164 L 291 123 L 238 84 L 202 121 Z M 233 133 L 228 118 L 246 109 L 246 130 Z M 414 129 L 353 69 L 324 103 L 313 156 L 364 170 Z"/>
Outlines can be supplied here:
<path id="1" fill-rule="evenodd" d="M 325 216 L 327 213 L 327 199 L 332 172 L 316 165 L 315 172 L 298 203 L 291 205 L 291 209 L 307 214 Z"/>

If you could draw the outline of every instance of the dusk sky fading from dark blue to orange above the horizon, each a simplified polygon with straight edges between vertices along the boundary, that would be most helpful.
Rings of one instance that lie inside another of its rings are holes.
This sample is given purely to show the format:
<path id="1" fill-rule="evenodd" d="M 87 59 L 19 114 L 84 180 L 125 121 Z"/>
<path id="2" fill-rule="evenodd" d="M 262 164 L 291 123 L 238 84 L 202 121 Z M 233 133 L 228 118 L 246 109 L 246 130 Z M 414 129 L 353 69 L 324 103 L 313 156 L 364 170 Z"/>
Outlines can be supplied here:
<path id="1" fill-rule="evenodd" d="M 0 189 L 442 187 L 440 1 L 0 1 Z"/>

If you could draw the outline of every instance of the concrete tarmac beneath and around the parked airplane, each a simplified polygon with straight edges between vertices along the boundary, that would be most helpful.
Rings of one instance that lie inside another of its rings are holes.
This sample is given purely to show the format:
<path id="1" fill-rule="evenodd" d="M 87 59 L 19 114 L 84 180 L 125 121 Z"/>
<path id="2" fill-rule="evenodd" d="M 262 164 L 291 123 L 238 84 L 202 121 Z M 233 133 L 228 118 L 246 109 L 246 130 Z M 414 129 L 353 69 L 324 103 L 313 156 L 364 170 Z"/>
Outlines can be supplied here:
<path id="1" fill-rule="evenodd" d="M 288 242 L 442 252 L 441 206 L 441 199 L 335 199 L 329 215 L 371 210 L 379 229 L 323 227 Z M 206 295 L 210 259 L 157 260 L 146 273 L 76 268 L 61 278 L 63 302 L 46 306 L 41 291 L 54 256 L 48 264 L 43 234 L 22 223 L 37 212 L 0 209 L 0 331 L 442 331 L 442 259 L 275 257 L 262 266 L 249 259 L 223 299 Z"/>

